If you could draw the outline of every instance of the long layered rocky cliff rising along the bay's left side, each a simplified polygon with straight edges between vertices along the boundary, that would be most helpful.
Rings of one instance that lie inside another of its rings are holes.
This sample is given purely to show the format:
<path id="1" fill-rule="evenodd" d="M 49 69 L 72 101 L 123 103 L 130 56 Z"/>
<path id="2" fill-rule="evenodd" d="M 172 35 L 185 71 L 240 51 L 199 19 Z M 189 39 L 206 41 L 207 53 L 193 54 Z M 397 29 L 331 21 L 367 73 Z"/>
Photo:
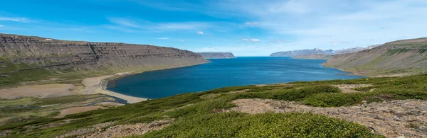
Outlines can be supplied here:
<path id="1" fill-rule="evenodd" d="M 116 42 L 54 40 L 0 34 L 0 67 L 3 74 L 22 69 L 97 70 L 157 69 L 207 62 L 199 54 L 172 47 Z M 20 64 L 19 67 L 11 66 Z"/>

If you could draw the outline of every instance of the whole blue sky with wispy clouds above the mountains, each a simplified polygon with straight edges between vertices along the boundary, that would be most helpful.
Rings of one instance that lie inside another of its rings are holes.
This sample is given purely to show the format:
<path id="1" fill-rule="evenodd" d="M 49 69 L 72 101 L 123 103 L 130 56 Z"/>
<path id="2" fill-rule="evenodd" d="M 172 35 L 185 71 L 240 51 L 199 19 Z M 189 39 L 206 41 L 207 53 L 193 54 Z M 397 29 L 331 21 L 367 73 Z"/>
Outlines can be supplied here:
<path id="1" fill-rule="evenodd" d="M 0 33 L 268 56 L 427 37 L 427 1 L 10 0 Z"/>

